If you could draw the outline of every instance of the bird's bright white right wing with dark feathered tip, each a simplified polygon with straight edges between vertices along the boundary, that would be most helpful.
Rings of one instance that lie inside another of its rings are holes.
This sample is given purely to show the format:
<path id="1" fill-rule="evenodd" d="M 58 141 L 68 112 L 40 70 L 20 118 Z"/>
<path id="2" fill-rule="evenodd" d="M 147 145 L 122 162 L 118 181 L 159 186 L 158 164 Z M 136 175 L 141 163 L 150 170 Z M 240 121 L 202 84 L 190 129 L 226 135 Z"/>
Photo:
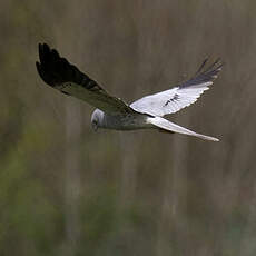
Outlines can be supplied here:
<path id="1" fill-rule="evenodd" d="M 161 117 L 194 104 L 205 90 L 209 89 L 223 67 L 220 59 L 217 59 L 208 68 L 205 68 L 207 60 L 201 63 L 196 75 L 188 81 L 173 89 L 138 99 L 130 107 L 139 112 Z"/>

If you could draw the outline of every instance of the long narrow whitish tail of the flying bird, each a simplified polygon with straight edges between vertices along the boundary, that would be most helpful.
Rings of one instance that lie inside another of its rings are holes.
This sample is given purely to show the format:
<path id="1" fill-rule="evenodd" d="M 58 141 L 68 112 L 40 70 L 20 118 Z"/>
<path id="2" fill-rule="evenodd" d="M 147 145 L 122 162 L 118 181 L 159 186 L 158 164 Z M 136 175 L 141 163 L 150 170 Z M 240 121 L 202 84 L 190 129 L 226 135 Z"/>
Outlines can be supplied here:
<path id="1" fill-rule="evenodd" d="M 161 117 L 148 118 L 148 122 L 150 122 L 155 127 L 158 127 L 161 131 L 165 130 L 167 132 L 169 131 L 169 132 L 177 132 L 177 134 L 183 134 L 183 135 L 195 136 L 197 138 L 205 139 L 205 140 L 219 141 L 219 139 L 217 139 L 217 138 L 197 134 L 193 130 L 186 129 L 186 128 L 178 126 L 171 121 L 168 121 Z"/>

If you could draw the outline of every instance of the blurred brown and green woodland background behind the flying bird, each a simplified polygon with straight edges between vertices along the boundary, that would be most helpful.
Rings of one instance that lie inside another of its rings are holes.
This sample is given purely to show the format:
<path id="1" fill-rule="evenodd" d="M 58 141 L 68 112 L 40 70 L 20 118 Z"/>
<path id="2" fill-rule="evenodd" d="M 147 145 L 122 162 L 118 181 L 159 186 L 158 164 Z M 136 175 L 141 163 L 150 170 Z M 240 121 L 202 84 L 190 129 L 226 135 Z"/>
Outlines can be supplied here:
<path id="1" fill-rule="evenodd" d="M 256 3 L 0 1 L 0 255 L 256 255 Z M 47 42 L 131 102 L 226 62 L 170 120 L 219 137 L 90 127 L 36 71 Z"/>

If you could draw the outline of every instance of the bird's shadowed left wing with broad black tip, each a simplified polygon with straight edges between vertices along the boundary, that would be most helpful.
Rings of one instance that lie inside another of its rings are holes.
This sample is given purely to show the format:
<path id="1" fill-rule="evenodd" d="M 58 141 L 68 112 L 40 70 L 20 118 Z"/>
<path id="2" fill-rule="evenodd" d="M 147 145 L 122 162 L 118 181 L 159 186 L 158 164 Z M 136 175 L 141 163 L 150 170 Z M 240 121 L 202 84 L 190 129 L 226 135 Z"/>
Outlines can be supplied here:
<path id="1" fill-rule="evenodd" d="M 121 99 L 108 95 L 96 81 L 61 58 L 57 50 L 50 49 L 48 45 L 39 43 L 39 59 L 40 62 L 36 62 L 38 73 L 50 87 L 85 100 L 105 112 L 135 112 Z"/>

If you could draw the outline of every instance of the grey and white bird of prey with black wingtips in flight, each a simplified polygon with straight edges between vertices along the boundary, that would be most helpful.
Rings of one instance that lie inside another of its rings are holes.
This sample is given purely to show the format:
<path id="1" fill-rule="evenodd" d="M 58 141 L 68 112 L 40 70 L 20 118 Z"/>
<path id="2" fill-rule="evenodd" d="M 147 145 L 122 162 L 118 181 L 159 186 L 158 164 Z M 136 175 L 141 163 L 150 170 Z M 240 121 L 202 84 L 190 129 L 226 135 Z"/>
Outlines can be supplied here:
<path id="1" fill-rule="evenodd" d="M 37 70 L 47 85 L 67 96 L 85 100 L 97 108 L 91 115 L 91 125 L 95 130 L 98 128 L 115 130 L 156 129 L 219 141 L 217 138 L 197 134 L 163 117 L 188 107 L 205 90 L 208 90 L 221 70 L 220 59 L 208 67 L 206 67 L 208 60 L 206 59 L 191 79 L 171 89 L 145 96 L 130 105 L 109 95 L 95 80 L 81 72 L 67 59 L 60 57 L 58 51 L 51 49 L 47 43 L 39 43 L 39 60 L 36 62 Z"/>

